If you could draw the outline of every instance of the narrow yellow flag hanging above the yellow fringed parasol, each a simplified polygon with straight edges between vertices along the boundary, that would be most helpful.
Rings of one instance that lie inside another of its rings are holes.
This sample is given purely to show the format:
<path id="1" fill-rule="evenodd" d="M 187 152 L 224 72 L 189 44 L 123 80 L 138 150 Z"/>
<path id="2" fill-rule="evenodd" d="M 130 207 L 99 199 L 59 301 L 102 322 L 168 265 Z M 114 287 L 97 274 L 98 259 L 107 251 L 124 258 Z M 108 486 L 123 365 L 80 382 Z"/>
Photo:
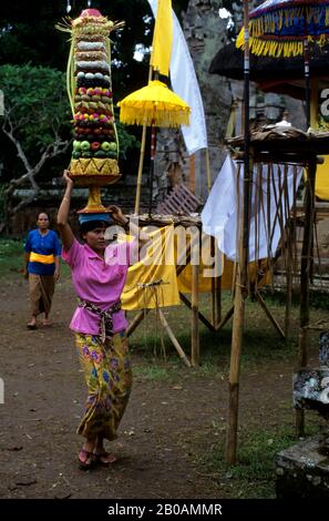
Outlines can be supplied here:
<path id="1" fill-rule="evenodd" d="M 173 13 L 172 0 L 157 0 L 151 65 L 161 74 L 169 74 L 169 63 L 173 47 Z"/>

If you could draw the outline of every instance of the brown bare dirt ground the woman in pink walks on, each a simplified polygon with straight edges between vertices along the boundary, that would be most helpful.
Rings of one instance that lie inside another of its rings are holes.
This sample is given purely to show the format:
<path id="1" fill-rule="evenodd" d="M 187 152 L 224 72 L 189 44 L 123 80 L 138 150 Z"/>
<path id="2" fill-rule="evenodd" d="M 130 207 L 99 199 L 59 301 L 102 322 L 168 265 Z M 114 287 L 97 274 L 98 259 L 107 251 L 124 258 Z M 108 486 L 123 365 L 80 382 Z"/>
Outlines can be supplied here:
<path id="1" fill-rule="evenodd" d="M 82 472 L 75 429 L 85 389 L 68 328 L 74 308 L 71 284 L 63 280 L 56 287 L 53 326 L 37 331 L 25 329 L 25 284 L 7 280 L 0 293 L 0 377 L 6 391 L 0 405 L 1 498 L 228 497 L 197 463 L 201 452 L 210 451 L 224 436 L 225 379 L 203 378 L 183 365 L 178 386 L 136 377 L 114 442 L 120 461 L 111 469 Z M 133 362 L 141 360 L 134 356 Z M 289 399 L 290 370 L 273 367 L 263 376 L 244 376 L 241 422 L 261 423 L 269 402 Z M 276 420 L 273 415 L 268 421 Z"/>

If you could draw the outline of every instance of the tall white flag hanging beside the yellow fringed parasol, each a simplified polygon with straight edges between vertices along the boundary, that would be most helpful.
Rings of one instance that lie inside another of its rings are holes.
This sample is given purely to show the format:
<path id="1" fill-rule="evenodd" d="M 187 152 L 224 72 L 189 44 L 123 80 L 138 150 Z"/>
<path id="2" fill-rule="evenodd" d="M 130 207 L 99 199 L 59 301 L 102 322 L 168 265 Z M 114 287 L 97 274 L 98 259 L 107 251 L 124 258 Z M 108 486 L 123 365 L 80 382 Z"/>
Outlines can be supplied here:
<path id="1" fill-rule="evenodd" d="M 148 0 L 148 3 L 155 18 L 157 0 Z M 171 81 L 174 92 L 191 106 L 189 126 L 181 129 L 187 153 L 192 155 L 208 147 L 205 112 L 189 50 L 174 11 L 173 25 Z"/>

